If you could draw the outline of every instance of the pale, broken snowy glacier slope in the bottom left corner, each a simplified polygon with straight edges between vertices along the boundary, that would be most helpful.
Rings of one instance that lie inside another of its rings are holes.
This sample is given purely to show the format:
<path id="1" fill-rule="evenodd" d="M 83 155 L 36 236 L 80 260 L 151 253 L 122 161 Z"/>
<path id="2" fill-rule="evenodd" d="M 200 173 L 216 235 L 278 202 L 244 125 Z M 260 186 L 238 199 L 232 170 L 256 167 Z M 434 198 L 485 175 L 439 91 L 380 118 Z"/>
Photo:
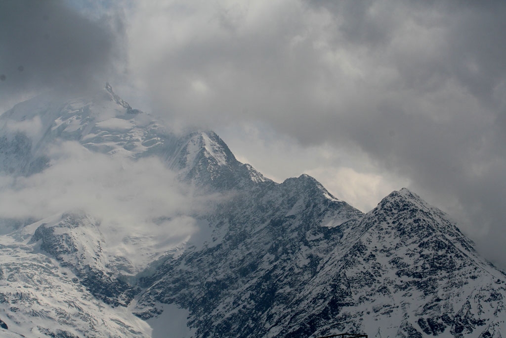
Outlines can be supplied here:
<path id="1" fill-rule="evenodd" d="M 127 309 L 106 305 L 83 287 L 74 266 L 16 235 L 0 236 L 0 314 L 9 332 L 26 337 L 151 335 L 149 325 Z"/>

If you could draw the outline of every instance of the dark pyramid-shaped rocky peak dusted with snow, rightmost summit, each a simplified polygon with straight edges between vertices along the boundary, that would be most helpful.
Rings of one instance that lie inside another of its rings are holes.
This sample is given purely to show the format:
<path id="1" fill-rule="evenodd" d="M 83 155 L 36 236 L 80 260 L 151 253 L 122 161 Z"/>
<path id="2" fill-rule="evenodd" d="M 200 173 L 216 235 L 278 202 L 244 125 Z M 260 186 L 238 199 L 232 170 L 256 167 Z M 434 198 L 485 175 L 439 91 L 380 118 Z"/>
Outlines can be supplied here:
<path id="1" fill-rule="evenodd" d="M 300 309 L 297 332 L 477 337 L 504 329 L 504 274 L 440 210 L 403 189 L 358 229 L 353 246 L 335 250 L 301 293 L 320 308 Z"/>

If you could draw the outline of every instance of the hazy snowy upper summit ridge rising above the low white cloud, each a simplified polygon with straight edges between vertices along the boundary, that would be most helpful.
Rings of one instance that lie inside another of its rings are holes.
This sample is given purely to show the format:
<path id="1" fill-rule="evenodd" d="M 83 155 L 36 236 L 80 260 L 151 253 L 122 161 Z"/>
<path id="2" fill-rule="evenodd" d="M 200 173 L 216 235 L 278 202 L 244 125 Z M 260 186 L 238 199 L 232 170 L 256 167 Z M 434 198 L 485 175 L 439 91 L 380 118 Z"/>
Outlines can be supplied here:
<path id="1" fill-rule="evenodd" d="M 269 180 L 238 162 L 214 131 L 176 135 L 164 122 L 133 109 L 109 83 L 91 97 L 63 102 L 39 95 L 7 111 L 0 117 L 1 125 L 5 136 L 0 139 L 0 157 L 3 154 L 5 161 L 0 170 L 7 172 L 40 172 L 49 164 L 48 148 L 63 140 L 116 157 L 157 156 L 185 180 L 200 186 L 210 181 L 217 190 Z M 29 125 L 31 134 L 26 132 Z"/>

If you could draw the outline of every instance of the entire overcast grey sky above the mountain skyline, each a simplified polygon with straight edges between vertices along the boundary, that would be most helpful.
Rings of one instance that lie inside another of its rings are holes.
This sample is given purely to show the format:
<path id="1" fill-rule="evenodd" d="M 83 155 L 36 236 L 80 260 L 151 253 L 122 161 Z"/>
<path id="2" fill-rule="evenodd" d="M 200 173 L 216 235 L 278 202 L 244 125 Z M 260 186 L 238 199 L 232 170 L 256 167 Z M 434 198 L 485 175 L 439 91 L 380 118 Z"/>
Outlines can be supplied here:
<path id="1" fill-rule="evenodd" d="M 107 79 L 276 181 L 308 173 L 363 211 L 407 186 L 506 268 L 504 17 L 503 1 L 4 1 L 0 107 Z"/>

